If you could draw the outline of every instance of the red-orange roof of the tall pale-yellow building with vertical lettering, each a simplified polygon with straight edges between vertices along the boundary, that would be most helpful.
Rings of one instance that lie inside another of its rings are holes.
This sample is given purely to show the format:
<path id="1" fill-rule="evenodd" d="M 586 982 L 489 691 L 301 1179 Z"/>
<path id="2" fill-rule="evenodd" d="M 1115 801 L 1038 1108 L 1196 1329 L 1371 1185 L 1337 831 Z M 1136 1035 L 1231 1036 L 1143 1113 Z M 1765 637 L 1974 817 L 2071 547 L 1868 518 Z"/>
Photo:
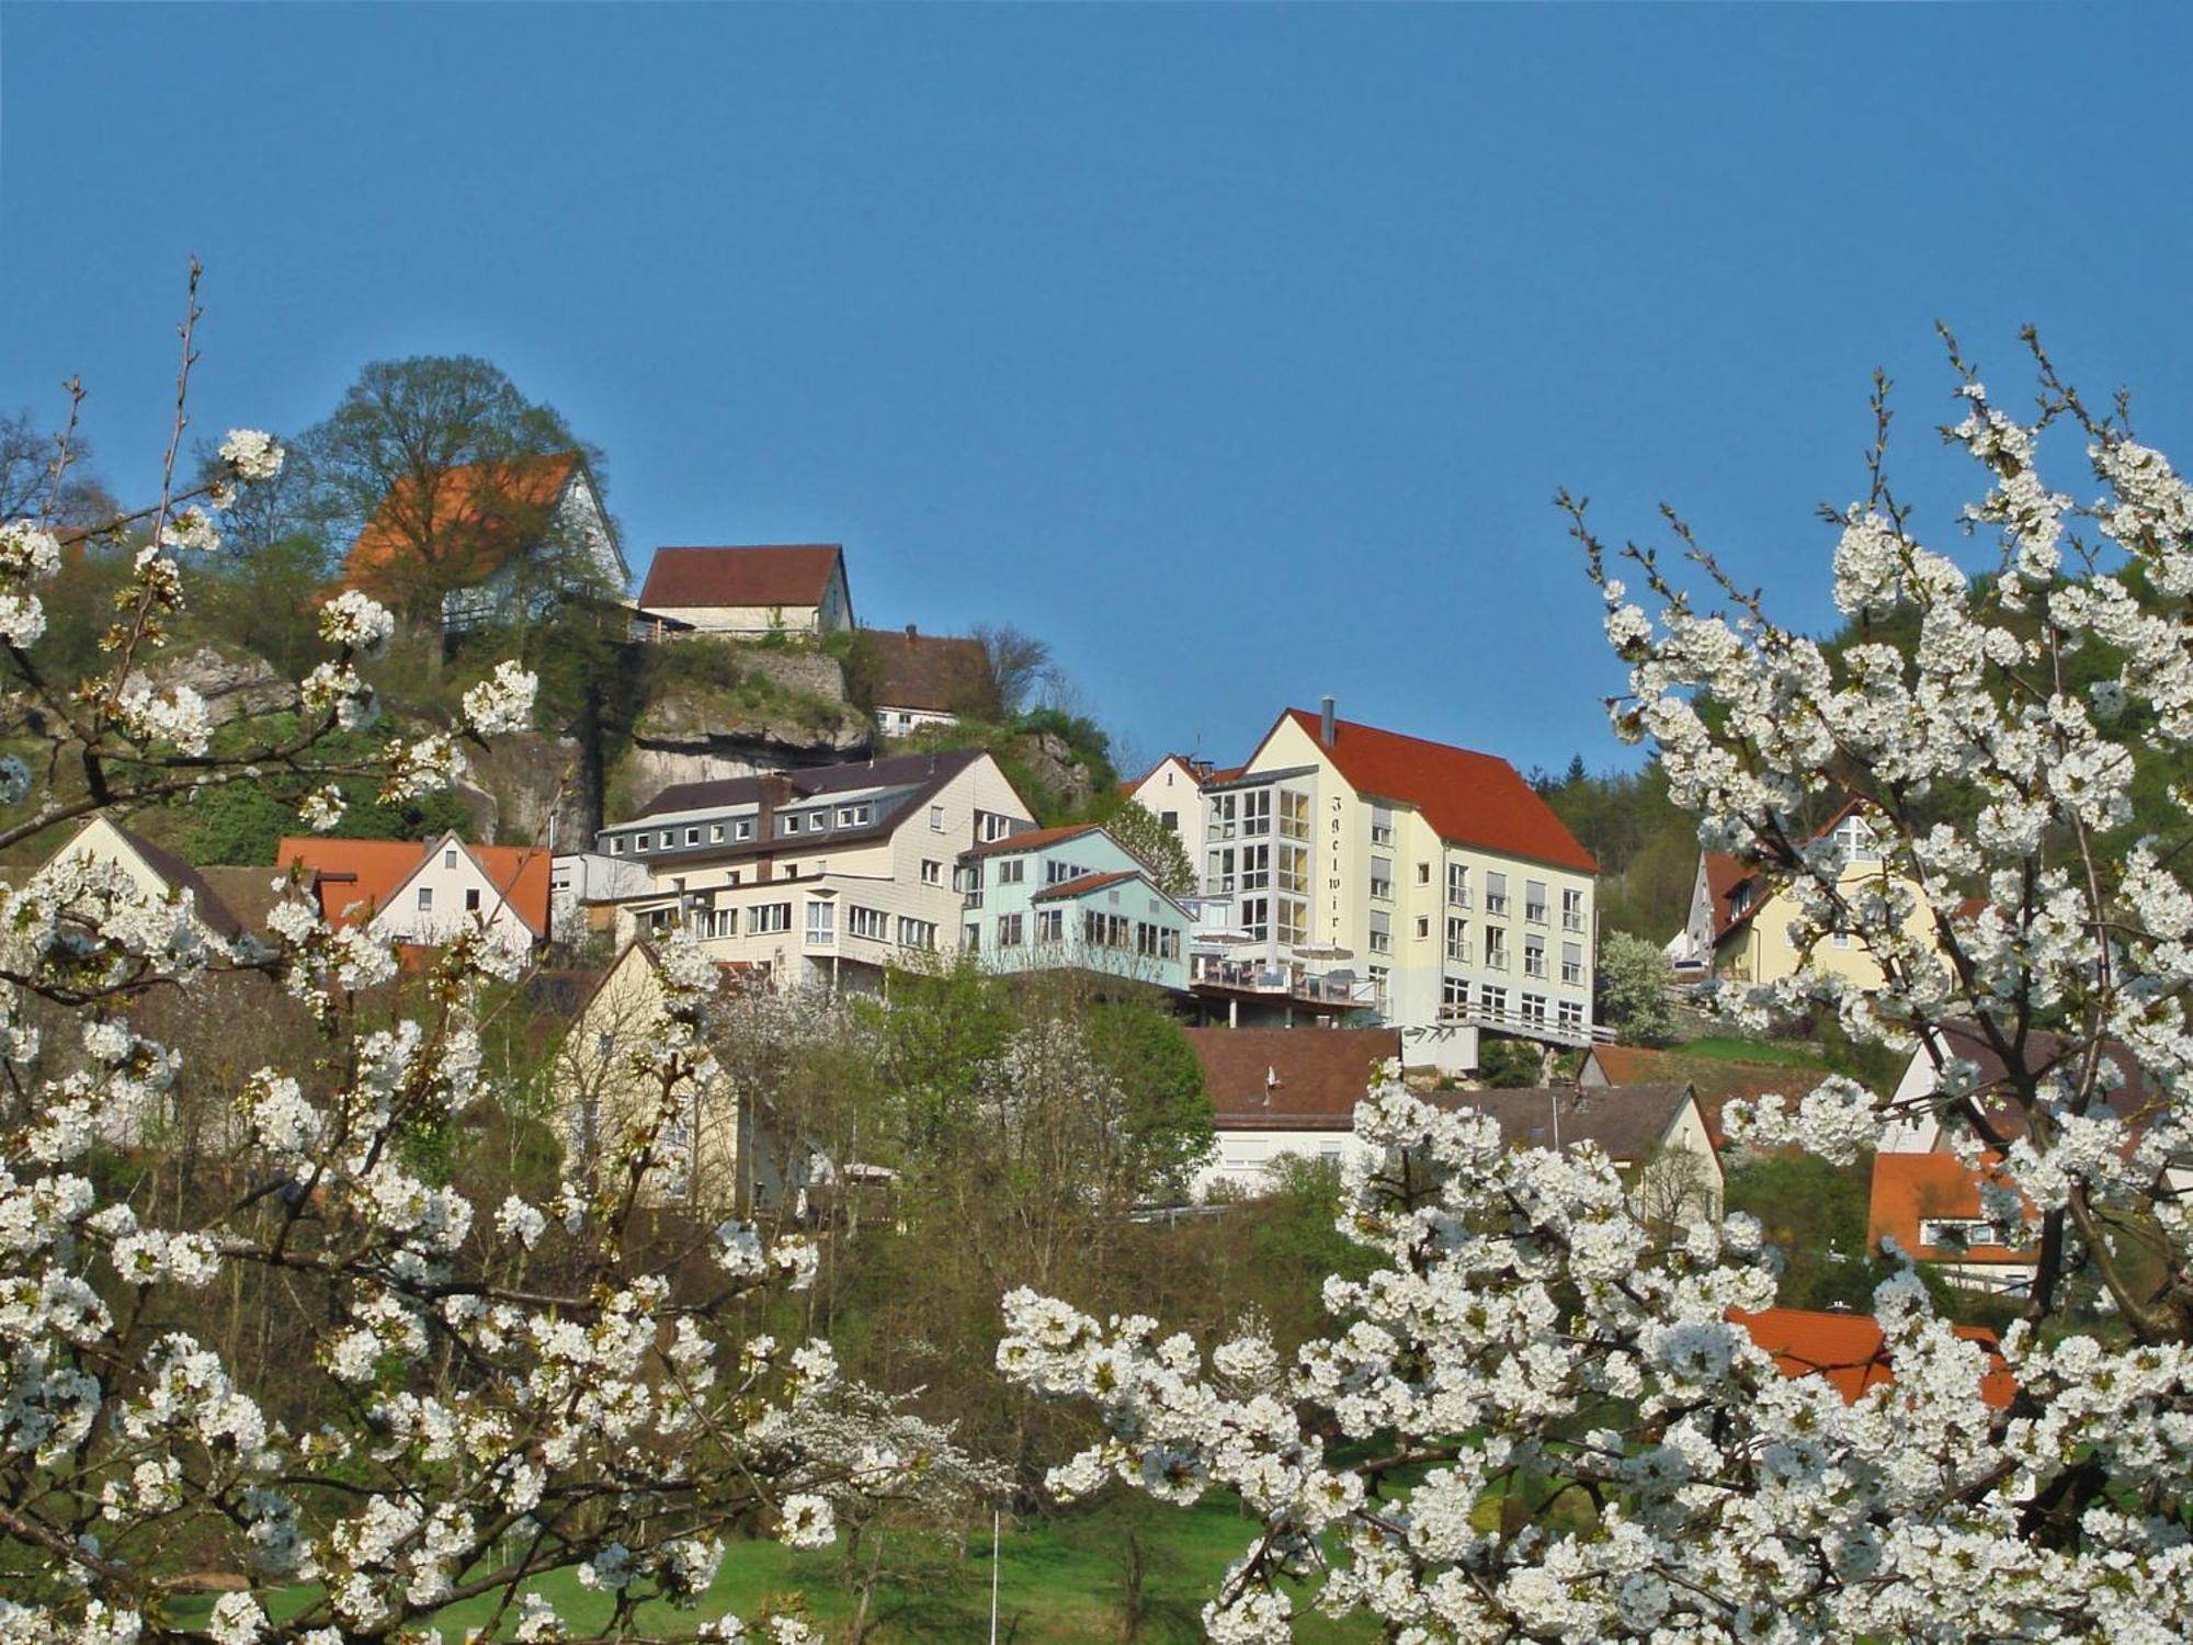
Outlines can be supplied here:
<path id="1" fill-rule="evenodd" d="M 1285 717 L 1318 741 L 1318 715 L 1287 708 Z M 1441 840 L 1599 873 L 1592 853 L 1577 844 L 1553 807 L 1496 755 L 1357 726 L 1353 719 L 1333 724 L 1333 746 L 1325 752 L 1357 794 L 1414 805 Z M 1213 774 L 1213 781 L 1224 779 Z"/>

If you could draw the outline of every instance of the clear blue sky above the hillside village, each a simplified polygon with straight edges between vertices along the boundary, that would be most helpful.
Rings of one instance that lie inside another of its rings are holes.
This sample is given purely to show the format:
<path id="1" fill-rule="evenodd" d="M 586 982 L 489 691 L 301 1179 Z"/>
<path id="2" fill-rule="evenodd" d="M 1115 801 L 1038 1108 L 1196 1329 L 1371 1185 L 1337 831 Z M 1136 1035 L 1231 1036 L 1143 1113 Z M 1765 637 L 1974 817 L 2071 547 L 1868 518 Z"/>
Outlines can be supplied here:
<path id="1" fill-rule="evenodd" d="M 502 364 L 667 542 L 836 540 L 1125 750 L 1285 704 L 1627 763 L 1561 520 L 1673 500 L 1825 627 L 1866 379 L 1947 535 L 1945 318 L 2193 461 L 2184 11 L 0 7 L 0 408 L 156 474 Z M 2075 480 L 2066 474 L 2061 483 Z M 2077 487 L 2075 487 L 2077 489 Z M 1947 546 L 1947 544 L 1945 544 Z"/>

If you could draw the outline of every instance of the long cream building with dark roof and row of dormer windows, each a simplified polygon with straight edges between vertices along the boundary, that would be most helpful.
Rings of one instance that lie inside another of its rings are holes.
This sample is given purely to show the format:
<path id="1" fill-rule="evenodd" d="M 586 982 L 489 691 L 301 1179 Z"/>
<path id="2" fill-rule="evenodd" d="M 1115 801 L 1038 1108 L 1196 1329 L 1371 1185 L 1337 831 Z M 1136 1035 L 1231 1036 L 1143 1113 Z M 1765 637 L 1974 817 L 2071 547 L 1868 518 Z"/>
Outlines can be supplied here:
<path id="1" fill-rule="evenodd" d="M 686 928 L 787 987 L 873 989 L 958 950 L 961 853 L 1033 827 L 998 761 L 956 750 L 678 783 L 596 849 L 647 866 L 614 904 L 618 941 Z"/>

